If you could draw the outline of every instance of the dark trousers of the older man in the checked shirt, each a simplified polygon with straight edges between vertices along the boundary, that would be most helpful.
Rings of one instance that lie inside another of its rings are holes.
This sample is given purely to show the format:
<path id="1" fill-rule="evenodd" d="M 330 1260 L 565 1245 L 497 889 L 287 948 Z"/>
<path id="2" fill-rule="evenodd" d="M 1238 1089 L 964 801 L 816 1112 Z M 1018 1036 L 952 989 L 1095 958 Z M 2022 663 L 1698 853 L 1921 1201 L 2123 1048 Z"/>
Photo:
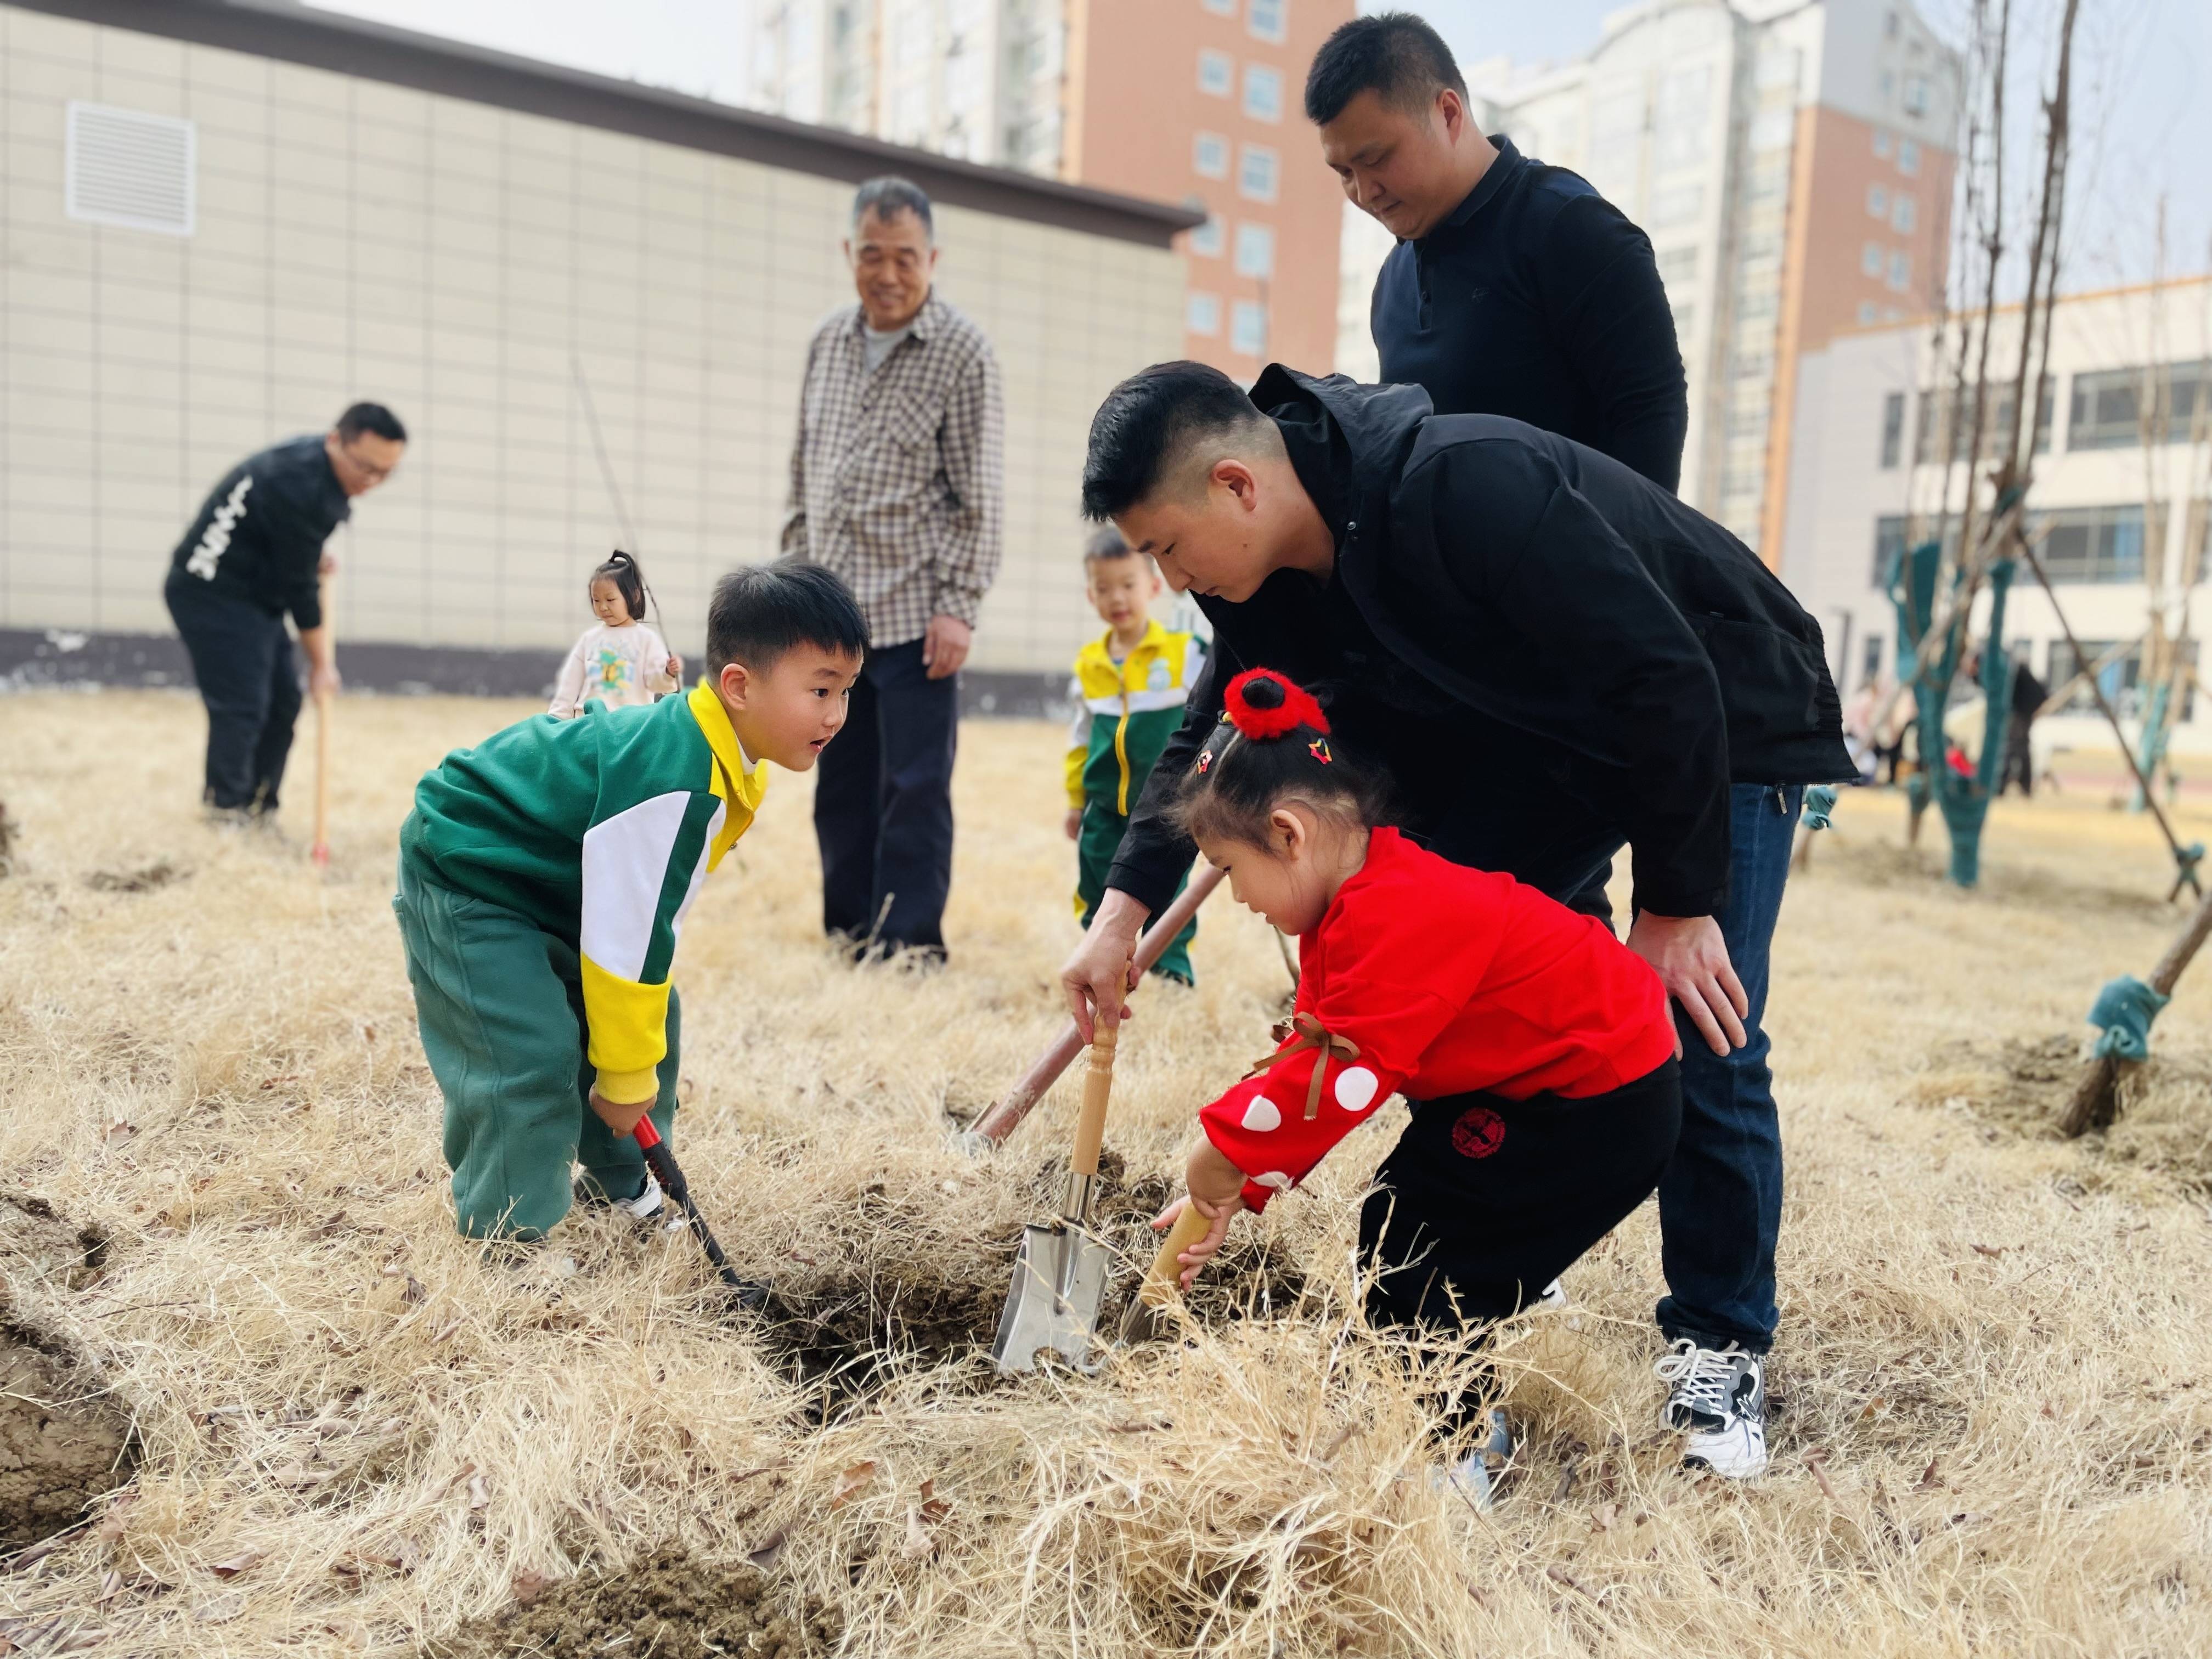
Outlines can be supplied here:
<path id="1" fill-rule="evenodd" d="M 929 679 L 920 639 L 867 655 L 845 730 L 816 768 L 830 933 L 945 956 L 958 732 L 960 677 Z"/>

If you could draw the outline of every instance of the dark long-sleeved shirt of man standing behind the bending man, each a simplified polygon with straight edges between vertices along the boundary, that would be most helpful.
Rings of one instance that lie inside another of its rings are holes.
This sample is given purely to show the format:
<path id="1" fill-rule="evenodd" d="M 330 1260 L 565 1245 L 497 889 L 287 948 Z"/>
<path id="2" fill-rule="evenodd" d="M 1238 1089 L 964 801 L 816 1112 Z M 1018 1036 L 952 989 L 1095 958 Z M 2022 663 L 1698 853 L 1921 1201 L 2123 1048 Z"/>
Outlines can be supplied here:
<path id="1" fill-rule="evenodd" d="M 1422 387 L 1438 414 L 1526 420 L 1679 489 L 1690 400 L 1650 239 L 1584 177 L 1491 142 L 1467 201 L 1383 261 L 1383 378 Z"/>

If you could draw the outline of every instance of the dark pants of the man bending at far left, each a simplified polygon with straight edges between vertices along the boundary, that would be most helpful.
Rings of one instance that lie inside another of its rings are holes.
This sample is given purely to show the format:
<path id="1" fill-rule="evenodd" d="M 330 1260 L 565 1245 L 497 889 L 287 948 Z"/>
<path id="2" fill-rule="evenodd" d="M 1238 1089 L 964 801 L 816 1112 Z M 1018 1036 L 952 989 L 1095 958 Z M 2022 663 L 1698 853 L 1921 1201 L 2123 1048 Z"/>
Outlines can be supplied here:
<path id="1" fill-rule="evenodd" d="M 208 805 L 274 812 L 301 701 L 283 617 L 192 575 L 170 575 L 161 597 L 208 706 Z"/>

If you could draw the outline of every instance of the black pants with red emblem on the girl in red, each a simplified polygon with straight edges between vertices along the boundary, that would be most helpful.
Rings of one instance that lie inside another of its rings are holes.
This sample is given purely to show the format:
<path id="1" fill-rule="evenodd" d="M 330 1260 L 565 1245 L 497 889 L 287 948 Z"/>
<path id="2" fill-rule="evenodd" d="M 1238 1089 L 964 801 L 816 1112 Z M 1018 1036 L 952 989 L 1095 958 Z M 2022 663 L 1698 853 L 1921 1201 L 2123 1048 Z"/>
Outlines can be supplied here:
<path id="1" fill-rule="evenodd" d="M 1681 1068 L 1610 1095 L 1418 1102 L 1360 1210 L 1367 1314 L 1451 1332 L 1535 1301 L 1648 1199 L 1681 1130 Z"/>

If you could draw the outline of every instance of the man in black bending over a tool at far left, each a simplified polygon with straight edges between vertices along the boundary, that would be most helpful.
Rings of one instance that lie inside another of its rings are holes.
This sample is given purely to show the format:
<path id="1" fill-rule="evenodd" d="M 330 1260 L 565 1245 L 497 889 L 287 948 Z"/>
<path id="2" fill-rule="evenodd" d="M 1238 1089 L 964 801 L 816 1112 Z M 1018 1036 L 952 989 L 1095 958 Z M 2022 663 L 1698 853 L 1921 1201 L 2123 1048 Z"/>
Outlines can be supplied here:
<path id="1" fill-rule="evenodd" d="M 232 467 L 177 542 L 161 595 L 208 706 L 208 814 L 270 823 L 292 752 L 301 686 L 283 617 L 307 653 L 310 688 L 338 688 L 319 577 L 338 568 L 323 542 L 352 498 L 385 482 L 407 429 L 380 403 L 356 403 L 321 436 L 290 438 Z"/>

